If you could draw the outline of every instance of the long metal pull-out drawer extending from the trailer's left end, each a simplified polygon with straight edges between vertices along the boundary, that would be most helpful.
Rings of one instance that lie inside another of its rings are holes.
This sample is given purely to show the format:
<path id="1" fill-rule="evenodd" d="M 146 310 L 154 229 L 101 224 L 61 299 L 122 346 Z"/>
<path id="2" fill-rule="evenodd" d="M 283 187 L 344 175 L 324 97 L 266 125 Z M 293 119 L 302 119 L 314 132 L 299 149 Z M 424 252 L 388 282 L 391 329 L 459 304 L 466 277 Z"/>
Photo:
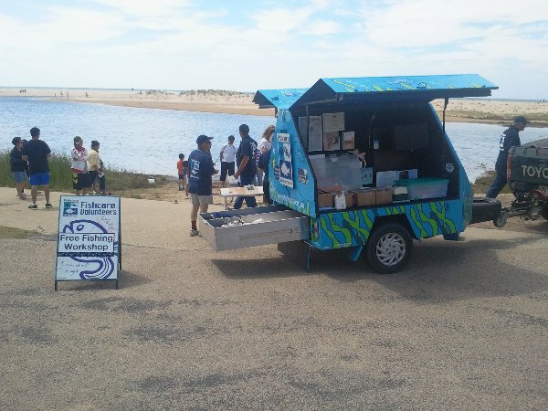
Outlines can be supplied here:
<path id="1" fill-rule="evenodd" d="M 198 216 L 200 233 L 216 251 L 308 239 L 309 217 L 281 205 Z"/>

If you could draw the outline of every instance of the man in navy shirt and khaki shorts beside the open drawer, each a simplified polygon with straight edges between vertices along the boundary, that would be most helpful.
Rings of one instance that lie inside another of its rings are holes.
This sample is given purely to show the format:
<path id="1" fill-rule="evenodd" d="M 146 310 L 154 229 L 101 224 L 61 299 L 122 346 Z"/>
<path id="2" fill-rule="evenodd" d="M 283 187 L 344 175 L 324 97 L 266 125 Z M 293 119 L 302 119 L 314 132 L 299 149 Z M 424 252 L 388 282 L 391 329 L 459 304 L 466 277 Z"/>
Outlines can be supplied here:
<path id="1" fill-rule="evenodd" d="M 202 134 L 196 139 L 198 149 L 188 156 L 188 191 L 192 201 L 192 211 L 190 212 L 190 237 L 200 234 L 196 226 L 198 218 L 198 209 L 200 213 L 206 213 L 207 207 L 213 204 L 213 191 L 211 176 L 218 171 L 213 166 L 211 158 L 211 140 L 213 137 L 207 137 Z"/>

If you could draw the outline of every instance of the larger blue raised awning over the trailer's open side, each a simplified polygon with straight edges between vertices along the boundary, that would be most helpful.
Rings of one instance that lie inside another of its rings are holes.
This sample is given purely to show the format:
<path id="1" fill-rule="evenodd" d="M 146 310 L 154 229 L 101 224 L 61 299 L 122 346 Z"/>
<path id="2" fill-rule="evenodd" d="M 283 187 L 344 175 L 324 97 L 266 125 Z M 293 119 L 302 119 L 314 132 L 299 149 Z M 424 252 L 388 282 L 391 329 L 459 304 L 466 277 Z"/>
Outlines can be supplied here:
<path id="1" fill-rule="evenodd" d="M 329 101 L 368 103 L 486 97 L 496 89 L 497 86 L 477 74 L 319 79 L 291 108 Z"/>

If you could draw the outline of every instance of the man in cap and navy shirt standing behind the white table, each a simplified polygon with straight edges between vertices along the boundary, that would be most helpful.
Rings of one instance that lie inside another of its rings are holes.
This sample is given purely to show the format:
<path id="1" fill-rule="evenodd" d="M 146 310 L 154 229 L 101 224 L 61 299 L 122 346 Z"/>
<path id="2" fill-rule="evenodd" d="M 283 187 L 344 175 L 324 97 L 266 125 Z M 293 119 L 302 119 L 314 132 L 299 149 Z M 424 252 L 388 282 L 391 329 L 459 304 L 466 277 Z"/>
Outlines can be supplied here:
<path id="1" fill-rule="evenodd" d="M 242 186 L 253 184 L 255 180 L 255 174 L 257 173 L 257 164 L 255 163 L 255 153 L 257 152 L 257 142 L 249 137 L 248 124 L 242 124 L 239 126 L 239 134 L 242 138 L 236 153 L 237 172 L 234 174 L 234 178 L 240 177 Z M 246 205 L 249 207 L 256 207 L 257 202 L 255 196 L 239 196 L 234 202 L 234 209 L 241 208 L 242 204 L 246 200 Z"/>

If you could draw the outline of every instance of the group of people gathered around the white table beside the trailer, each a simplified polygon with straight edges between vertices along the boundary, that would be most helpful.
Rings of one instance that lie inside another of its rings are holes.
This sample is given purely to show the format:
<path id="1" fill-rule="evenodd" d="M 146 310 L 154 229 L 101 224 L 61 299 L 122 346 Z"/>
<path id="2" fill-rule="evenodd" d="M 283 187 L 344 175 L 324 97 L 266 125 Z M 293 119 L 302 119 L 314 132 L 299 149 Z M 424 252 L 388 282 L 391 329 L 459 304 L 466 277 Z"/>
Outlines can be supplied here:
<path id="1" fill-rule="evenodd" d="M 272 146 L 272 136 L 275 127 L 270 125 L 263 132 L 259 143 L 249 136 L 249 127 L 247 124 L 241 124 L 238 132 L 241 142 L 236 149 L 234 146 L 234 136 L 228 136 L 227 144 L 221 149 L 219 160 L 221 161 L 220 180 L 224 186 L 227 181 L 227 175 L 233 175 L 235 179 L 239 178 L 239 184 L 242 186 L 249 184 L 263 184 L 265 200 L 271 204 L 269 196 L 269 158 Z M 191 195 L 192 210 L 190 214 L 191 229 L 190 236 L 199 234 L 197 228 L 198 211 L 206 213 L 210 204 L 213 204 L 213 182 L 212 176 L 218 174 L 215 163 L 211 156 L 211 140 L 204 134 L 196 139 L 197 149 L 188 156 L 188 192 Z M 184 157 L 184 156 L 183 156 Z M 236 165 L 236 166 L 235 166 Z M 182 163 L 182 169 L 184 165 Z M 179 165 L 177 164 L 177 167 Z M 265 174 L 264 172 L 267 171 Z M 181 175 L 183 174 L 183 176 Z M 263 178 L 264 175 L 264 178 Z M 183 173 L 179 173 L 179 181 L 184 179 Z M 179 185 L 181 189 L 181 185 Z M 257 201 L 253 195 L 238 196 L 234 202 L 234 209 L 239 209 L 246 202 L 248 207 L 257 206 Z"/>

